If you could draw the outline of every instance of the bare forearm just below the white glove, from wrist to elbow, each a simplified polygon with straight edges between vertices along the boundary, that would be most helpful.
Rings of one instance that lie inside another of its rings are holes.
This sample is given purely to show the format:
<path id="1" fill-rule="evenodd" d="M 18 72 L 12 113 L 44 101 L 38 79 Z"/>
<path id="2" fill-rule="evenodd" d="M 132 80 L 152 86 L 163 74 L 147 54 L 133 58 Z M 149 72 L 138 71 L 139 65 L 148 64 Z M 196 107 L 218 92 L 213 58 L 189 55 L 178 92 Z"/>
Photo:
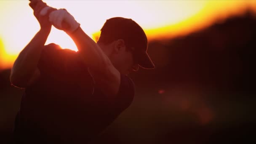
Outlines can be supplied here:
<path id="1" fill-rule="evenodd" d="M 69 36 L 77 45 L 84 63 L 94 71 L 100 72 L 111 63 L 99 45 L 86 35 L 80 27 Z"/>

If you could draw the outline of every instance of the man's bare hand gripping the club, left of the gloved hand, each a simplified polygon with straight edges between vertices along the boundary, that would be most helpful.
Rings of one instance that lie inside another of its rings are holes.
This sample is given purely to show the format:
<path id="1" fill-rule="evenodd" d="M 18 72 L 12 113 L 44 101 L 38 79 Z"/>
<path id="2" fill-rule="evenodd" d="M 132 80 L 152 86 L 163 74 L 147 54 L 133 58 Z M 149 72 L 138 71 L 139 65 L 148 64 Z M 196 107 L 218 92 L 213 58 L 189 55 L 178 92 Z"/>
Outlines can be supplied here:
<path id="1" fill-rule="evenodd" d="M 41 29 L 51 31 L 51 23 L 48 20 L 49 13 L 56 11 L 56 8 L 52 8 L 46 5 L 42 0 L 30 0 L 29 6 L 34 10 L 34 16 L 40 24 Z"/>

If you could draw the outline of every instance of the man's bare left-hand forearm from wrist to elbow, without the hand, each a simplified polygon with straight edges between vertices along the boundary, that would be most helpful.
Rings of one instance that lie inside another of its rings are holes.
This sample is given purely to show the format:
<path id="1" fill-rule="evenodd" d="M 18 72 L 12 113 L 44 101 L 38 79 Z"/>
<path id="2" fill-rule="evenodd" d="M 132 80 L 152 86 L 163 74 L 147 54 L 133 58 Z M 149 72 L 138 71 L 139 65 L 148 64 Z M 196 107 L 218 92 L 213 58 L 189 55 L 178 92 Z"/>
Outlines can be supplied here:
<path id="1" fill-rule="evenodd" d="M 49 30 L 40 29 L 28 45 L 19 53 L 11 69 L 10 80 L 14 85 L 26 85 L 37 69 L 41 51 L 49 35 Z"/>

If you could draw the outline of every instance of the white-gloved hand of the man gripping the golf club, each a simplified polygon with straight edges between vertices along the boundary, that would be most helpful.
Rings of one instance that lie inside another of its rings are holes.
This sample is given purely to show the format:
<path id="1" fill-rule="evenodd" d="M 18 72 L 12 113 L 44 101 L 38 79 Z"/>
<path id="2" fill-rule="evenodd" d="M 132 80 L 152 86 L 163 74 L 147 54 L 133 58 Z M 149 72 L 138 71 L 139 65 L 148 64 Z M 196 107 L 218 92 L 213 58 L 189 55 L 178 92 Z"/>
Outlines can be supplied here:
<path id="1" fill-rule="evenodd" d="M 66 9 L 59 9 L 51 12 L 49 21 L 54 27 L 64 30 L 66 33 L 72 33 L 80 26 Z"/>

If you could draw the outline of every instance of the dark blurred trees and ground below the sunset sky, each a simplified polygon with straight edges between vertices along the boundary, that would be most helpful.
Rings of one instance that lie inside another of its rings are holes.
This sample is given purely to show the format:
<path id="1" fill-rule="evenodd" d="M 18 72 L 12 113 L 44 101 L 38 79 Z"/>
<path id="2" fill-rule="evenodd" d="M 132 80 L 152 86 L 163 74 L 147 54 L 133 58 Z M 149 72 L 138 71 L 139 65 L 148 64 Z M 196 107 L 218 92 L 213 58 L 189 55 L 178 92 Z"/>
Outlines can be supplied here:
<path id="1" fill-rule="evenodd" d="M 230 143 L 255 133 L 256 16 L 149 43 L 156 69 L 131 75 L 136 97 L 93 144 Z M 0 72 L 0 143 L 11 138 L 23 90 Z"/>

